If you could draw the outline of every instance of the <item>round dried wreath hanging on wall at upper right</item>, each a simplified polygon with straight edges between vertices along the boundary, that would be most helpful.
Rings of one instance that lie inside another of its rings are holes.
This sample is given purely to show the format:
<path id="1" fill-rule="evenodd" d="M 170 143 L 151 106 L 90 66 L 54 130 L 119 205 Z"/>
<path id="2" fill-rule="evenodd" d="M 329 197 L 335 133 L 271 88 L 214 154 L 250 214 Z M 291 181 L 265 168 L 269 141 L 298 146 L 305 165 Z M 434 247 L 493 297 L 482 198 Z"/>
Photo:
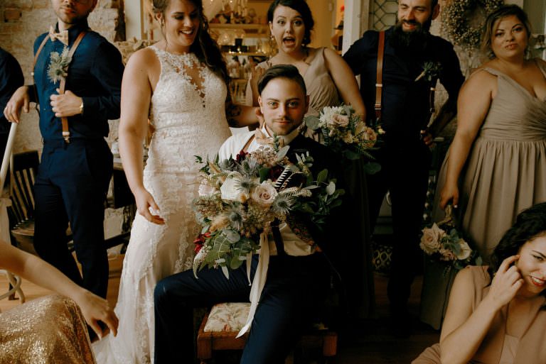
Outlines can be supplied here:
<path id="1" fill-rule="evenodd" d="M 467 50 L 480 44 L 485 18 L 504 4 L 504 0 L 451 0 L 442 6 L 442 30 L 454 45 Z M 473 13 L 483 18 L 476 21 Z"/>

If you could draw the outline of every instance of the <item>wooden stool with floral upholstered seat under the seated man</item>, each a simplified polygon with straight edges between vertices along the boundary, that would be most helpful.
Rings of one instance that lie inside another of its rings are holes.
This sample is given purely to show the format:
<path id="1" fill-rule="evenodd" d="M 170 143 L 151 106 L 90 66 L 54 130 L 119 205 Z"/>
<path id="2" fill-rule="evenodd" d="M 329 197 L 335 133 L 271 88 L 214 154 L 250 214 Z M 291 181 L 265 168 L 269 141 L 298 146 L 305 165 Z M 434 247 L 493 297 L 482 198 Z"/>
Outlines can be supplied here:
<path id="1" fill-rule="evenodd" d="M 213 350 L 241 350 L 245 347 L 248 333 L 236 338 L 245 326 L 250 303 L 228 302 L 216 304 L 203 317 L 197 335 L 197 357 L 201 364 L 212 358 Z M 338 335 L 334 331 L 314 330 L 302 336 L 299 345 L 322 346 L 325 360 L 337 353 Z"/>

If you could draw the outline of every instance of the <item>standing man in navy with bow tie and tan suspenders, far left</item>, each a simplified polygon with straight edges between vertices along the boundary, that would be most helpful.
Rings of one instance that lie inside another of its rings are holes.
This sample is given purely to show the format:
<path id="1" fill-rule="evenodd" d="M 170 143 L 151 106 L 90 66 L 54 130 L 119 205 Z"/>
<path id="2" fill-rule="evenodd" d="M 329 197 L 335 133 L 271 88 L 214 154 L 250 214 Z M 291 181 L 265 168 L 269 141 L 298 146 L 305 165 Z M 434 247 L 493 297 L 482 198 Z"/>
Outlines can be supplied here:
<path id="1" fill-rule="evenodd" d="M 43 152 L 34 184 L 36 251 L 77 284 L 106 297 L 103 221 L 112 153 L 105 137 L 108 119 L 119 118 L 122 57 L 87 25 L 97 0 L 51 0 L 51 4 L 58 23 L 34 43 L 34 53 L 39 53 L 35 84 L 17 89 L 4 114 L 9 121 L 18 122 L 21 109 L 28 112 L 30 101 L 40 105 Z M 73 48 L 82 33 L 65 70 L 65 92 L 60 94 L 60 79 L 50 72 L 56 67 L 54 53 L 61 55 Z M 63 139 L 63 117 L 68 119 L 68 142 Z M 67 246 L 69 221 L 82 275 Z"/>

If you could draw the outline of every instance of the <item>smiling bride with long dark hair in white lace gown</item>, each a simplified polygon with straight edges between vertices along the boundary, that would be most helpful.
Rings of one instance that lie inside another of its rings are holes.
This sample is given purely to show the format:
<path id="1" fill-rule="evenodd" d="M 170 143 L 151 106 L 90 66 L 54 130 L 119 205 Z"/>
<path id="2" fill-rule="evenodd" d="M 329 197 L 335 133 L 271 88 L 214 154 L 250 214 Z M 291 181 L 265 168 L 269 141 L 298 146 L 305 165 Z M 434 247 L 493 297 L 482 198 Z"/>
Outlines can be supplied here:
<path id="1" fill-rule="evenodd" d="M 151 363 L 154 287 L 191 268 L 200 231 L 191 206 L 199 184 L 194 155 L 215 155 L 231 135 L 226 110 L 238 120 L 252 114 L 230 104 L 226 109 L 225 63 L 208 34 L 201 1 L 153 5 L 165 40 L 134 53 L 123 76 L 119 150 L 139 214 L 119 285 L 117 336 L 93 346 L 99 364 Z M 148 118 L 155 131 L 143 173 Z"/>

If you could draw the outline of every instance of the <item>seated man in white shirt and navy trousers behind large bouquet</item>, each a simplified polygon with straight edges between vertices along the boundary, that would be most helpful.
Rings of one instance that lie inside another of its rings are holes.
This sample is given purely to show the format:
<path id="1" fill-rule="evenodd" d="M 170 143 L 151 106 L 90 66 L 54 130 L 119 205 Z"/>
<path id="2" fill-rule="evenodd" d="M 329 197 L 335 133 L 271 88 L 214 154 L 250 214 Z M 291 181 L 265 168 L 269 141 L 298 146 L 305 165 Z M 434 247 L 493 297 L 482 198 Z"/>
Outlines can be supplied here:
<path id="1" fill-rule="evenodd" d="M 287 156 L 309 152 L 314 158 L 311 171 L 316 176 L 335 166 L 331 152 L 314 140 L 299 135 L 298 127 L 309 105 L 304 79 L 296 67 L 277 65 L 267 70 L 258 82 L 259 107 L 264 126 L 256 132 L 228 138 L 220 148 L 220 160 L 235 158 L 241 150 L 252 153 L 274 134 L 290 145 Z M 302 216 L 305 217 L 305 216 Z M 311 227 L 309 227 L 311 230 Z M 321 248 L 324 234 L 311 236 Z M 320 239 L 321 238 L 321 239 Z M 269 242 L 271 257 L 267 280 L 259 296 L 250 335 L 241 363 L 284 363 L 302 331 L 309 326 L 314 309 L 329 288 L 331 267 L 319 249 L 301 240 L 289 226 L 280 228 L 280 239 Z M 251 280 L 258 258 L 254 255 Z M 191 363 L 193 355 L 193 309 L 220 302 L 249 302 L 251 287 L 246 265 L 230 272 L 229 279 L 220 269 L 191 270 L 161 280 L 155 290 L 155 363 Z"/>

